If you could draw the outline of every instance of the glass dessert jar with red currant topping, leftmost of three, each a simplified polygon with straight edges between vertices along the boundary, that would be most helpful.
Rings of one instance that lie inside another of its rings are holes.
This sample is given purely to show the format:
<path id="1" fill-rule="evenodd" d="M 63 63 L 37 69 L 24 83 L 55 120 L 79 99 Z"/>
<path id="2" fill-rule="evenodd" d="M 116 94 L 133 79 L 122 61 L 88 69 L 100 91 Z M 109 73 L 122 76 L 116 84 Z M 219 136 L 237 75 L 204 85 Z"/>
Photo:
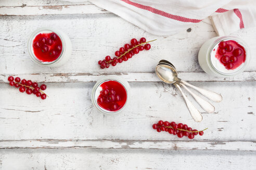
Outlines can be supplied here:
<path id="1" fill-rule="evenodd" d="M 60 66 L 70 58 L 71 51 L 72 45 L 67 34 L 49 27 L 35 30 L 28 41 L 28 53 L 40 65 Z"/>

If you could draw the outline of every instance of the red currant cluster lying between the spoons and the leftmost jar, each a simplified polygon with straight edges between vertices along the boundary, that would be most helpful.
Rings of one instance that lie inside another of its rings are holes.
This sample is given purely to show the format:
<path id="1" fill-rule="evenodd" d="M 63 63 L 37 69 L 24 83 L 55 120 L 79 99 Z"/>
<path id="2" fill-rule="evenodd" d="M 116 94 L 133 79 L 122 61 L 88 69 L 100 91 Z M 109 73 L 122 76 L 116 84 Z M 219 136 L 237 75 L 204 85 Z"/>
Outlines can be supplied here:
<path id="1" fill-rule="evenodd" d="M 155 39 L 156 40 L 156 39 Z M 155 41 L 151 40 L 151 41 Z M 116 51 L 113 59 L 109 55 L 105 57 L 105 60 L 98 61 L 98 64 L 100 65 L 100 68 L 108 68 L 110 64 L 112 66 L 116 66 L 117 63 L 122 63 L 123 61 L 127 61 L 128 59 L 131 59 L 134 54 L 138 54 L 139 51 L 149 50 L 151 48 L 149 42 L 146 42 L 146 38 L 142 37 L 137 41 L 137 39 L 133 38 L 131 39 L 131 45 L 125 44 L 124 47 L 121 47 L 119 51 Z M 145 45 L 144 45 L 145 44 Z"/>

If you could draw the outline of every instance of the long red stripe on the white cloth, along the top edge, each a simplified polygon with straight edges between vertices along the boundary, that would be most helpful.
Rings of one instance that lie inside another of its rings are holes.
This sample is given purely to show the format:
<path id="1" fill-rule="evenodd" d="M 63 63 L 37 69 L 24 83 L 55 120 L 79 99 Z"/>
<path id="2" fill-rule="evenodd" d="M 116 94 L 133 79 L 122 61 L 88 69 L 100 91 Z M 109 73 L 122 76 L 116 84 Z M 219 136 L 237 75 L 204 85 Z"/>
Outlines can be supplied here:
<path id="1" fill-rule="evenodd" d="M 131 2 L 129 0 L 120 0 L 120 1 L 122 1 L 122 2 L 124 2 L 126 4 L 129 4 L 129 5 L 135 6 L 137 8 L 148 10 L 148 11 L 150 11 L 152 13 L 156 13 L 156 14 L 158 14 L 160 16 L 167 17 L 167 18 L 170 18 L 170 19 L 173 19 L 173 20 L 177 20 L 177 21 L 193 22 L 193 23 L 198 23 L 198 22 L 202 21 L 202 20 L 198 20 L 198 19 L 190 19 L 190 18 L 186 18 L 186 17 L 172 15 L 171 13 L 167 13 L 167 12 L 164 12 L 162 10 L 150 7 L 150 6 L 134 3 L 134 2 Z"/>

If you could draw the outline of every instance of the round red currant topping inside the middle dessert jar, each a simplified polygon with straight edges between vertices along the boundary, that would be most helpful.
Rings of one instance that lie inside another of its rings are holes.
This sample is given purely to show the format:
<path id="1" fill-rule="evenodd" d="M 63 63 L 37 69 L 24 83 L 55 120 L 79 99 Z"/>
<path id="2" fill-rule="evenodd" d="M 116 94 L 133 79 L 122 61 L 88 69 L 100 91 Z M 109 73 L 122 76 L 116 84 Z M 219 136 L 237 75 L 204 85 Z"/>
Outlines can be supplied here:
<path id="1" fill-rule="evenodd" d="M 102 88 L 97 98 L 97 104 L 109 111 L 118 111 L 126 103 L 127 93 L 124 86 L 114 80 L 105 81 L 99 86 Z"/>

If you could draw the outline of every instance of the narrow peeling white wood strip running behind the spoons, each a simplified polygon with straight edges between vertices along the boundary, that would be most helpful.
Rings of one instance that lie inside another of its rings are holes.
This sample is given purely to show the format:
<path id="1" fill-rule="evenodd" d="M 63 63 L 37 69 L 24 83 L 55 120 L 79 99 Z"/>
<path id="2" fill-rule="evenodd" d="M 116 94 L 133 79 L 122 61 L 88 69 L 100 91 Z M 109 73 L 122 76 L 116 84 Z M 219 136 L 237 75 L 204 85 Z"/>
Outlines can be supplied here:
<path id="1" fill-rule="evenodd" d="M 8 76 L 19 76 L 22 79 L 31 79 L 37 82 L 96 82 L 106 75 L 119 75 L 129 82 L 158 82 L 160 79 L 155 73 L 34 73 L 34 74 L 0 74 L 0 83 L 7 83 Z M 179 72 L 178 76 L 185 81 L 234 82 L 256 81 L 256 71 L 244 72 L 235 77 L 213 77 L 204 72 Z"/>

